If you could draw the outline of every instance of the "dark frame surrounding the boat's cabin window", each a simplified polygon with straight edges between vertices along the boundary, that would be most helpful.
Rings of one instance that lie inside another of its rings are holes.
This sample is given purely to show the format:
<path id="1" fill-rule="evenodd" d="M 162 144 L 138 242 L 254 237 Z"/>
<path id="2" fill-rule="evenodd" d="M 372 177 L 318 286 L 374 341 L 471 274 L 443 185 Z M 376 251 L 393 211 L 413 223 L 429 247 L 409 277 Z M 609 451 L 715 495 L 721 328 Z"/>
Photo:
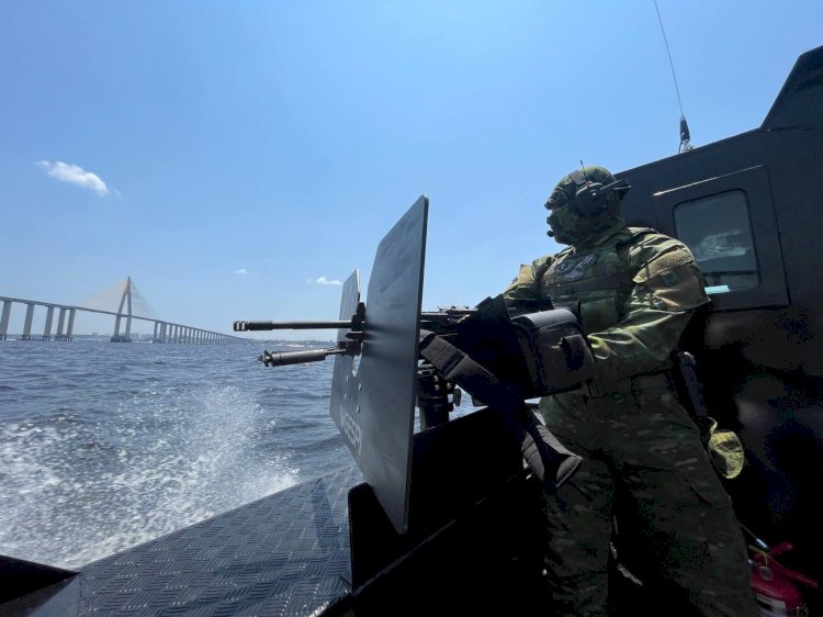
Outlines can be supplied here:
<path id="1" fill-rule="evenodd" d="M 765 166 L 758 165 L 725 176 L 654 193 L 652 203 L 655 226 L 658 232 L 677 237 L 675 210 L 678 206 L 730 191 L 742 192 L 748 206 L 748 220 L 759 282 L 752 288 L 710 293 L 711 310 L 787 306 L 789 304 L 789 291 L 786 284 L 780 237 L 771 201 L 771 188 Z"/>

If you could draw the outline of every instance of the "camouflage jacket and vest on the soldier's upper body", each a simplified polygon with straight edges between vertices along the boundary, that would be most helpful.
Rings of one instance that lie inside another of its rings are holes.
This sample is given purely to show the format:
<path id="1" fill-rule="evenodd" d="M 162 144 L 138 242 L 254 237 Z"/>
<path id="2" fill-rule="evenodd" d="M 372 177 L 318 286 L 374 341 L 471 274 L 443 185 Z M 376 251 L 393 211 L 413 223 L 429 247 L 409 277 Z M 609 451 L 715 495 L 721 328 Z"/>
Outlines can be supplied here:
<path id="1" fill-rule="evenodd" d="M 604 384 L 667 368 L 694 310 L 709 302 L 686 245 L 625 226 L 595 246 L 571 246 L 521 266 L 504 296 L 571 308 Z"/>

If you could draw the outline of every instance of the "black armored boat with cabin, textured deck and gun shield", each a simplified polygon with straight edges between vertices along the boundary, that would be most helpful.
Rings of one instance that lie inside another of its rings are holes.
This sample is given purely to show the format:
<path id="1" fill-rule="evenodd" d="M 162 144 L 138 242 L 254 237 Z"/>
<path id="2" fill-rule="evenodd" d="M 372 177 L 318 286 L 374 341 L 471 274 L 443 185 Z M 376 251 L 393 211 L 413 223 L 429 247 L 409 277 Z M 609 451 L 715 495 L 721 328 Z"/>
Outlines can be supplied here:
<path id="1" fill-rule="evenodd" d="M 813 587 L 823 577 L 821 153 L 823 47 L 799 57 L 759 127 L 617 175 L 632 186 L 622 203 L 628 223 L 680 238 L 706 276 L 712 303 L 684 346 L 712 416 L 745 448 L 744 469 L 726 487 L 755 565 L 764 564 L 760 556 L 792 581 L 811 614 L 822 610 Z M 420 198 L 381 243 L 368 327 L 354 341 L 360 355 L 335 355 L 331 416 L 357 464 L 79 571 L 0 557 L 0 614 L 545 607 L 533 541 L 540 486 L 519 449 L 500 437 L 500 411 L 481 406 L 414 429 L 427 212 Z M 359 306 L 356 272 L 331 324 L 339 341 L 352 339 L 347 326 Z M 633 554 L 631 530 L 618 537 L 613 565 L 623 576 L 611 590 L 615 613 L 656 615 L 665 606 L 676 614 L 665 591 L 647 584 L 653 573 Z M 769 561 L 769 551 L 783 554 Z"/>

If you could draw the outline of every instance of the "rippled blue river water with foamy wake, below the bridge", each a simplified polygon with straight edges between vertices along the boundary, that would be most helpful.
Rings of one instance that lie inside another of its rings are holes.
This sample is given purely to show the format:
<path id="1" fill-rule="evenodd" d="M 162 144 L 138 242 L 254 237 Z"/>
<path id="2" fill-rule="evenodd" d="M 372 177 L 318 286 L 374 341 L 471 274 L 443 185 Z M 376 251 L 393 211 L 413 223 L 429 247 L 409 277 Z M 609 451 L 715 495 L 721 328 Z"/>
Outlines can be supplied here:
<path id="1" fill-rule="evenodd" d="M 264 347 L 0 341 L 0 554 L 77 568 L 350 464 L 332 361 Z"/>

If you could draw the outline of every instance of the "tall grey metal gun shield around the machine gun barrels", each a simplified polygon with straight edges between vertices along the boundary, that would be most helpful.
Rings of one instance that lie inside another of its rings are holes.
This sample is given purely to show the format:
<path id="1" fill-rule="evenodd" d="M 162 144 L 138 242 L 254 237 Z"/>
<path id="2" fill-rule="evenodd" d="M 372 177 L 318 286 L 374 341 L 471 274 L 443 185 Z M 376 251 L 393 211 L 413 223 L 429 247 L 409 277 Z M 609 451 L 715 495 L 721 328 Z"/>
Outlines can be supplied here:
<path id="1" fill-rule="evenodd" d="M 377 246 L 362 354 L 359 361 L 335 357 L 331 385 L 331 417 L 401 534 L 408 529 L 428 210 L 428 198 L 420 197 Z M 359 287 L 354 271 L 343 285 L 340 319 L 354 313 Z M 345 336 L 339 330 L 338 339 Z"/>

